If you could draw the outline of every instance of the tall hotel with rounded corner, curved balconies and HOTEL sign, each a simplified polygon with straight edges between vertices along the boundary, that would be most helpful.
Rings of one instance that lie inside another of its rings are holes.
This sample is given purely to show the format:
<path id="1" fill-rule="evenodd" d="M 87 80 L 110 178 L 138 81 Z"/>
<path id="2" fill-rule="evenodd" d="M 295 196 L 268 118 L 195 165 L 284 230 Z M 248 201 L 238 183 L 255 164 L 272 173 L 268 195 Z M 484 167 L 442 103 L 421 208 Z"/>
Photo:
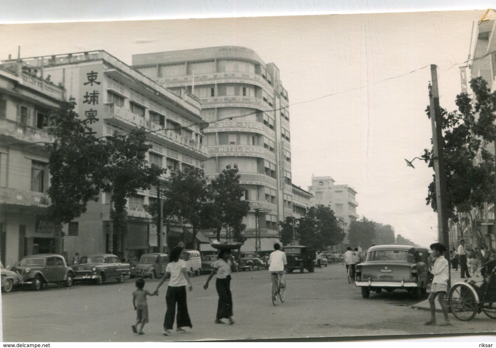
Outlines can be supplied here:
<path id="1" fill-rule="evenodd" d="M 186 87 L 199 98 L 201 118 L 209 122 L 205 174 L 213 179 L 238 166 L 250 203 L 242 250 L 272 250 L 278 222 L 293 215 L 289 102 L 277 66 L 239 46 L 133 55 L 132 65 L 172 91 Z"/>

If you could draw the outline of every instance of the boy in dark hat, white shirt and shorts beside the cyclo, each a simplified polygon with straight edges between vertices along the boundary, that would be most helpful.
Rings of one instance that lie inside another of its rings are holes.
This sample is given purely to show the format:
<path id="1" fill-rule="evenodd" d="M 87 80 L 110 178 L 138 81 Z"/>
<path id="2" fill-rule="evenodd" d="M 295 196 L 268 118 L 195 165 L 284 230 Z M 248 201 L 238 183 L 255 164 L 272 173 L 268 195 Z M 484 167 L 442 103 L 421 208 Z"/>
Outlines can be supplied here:
<path id="1" fill-rule="evenodd" d="M 444 296 L 448 292 L 448 278 L 449 278 L 449 265 L 448 260 L 443 256 L 446 247 L 441 243 L 431 244 L 432 256 L 434 258 L 434 266 L 432 273 L 434 274 L 431 292 L 429 293 L 429 304 L 431 308 L 431 319 L 425 325 L 435 325 L 435 298 L 438 296 L 441 305 L 442 314 L 444 315 L 444 322 L 439 323 L 439 326 L 451 325 L 448 317 L 448 307 L 444 301 Z"/>

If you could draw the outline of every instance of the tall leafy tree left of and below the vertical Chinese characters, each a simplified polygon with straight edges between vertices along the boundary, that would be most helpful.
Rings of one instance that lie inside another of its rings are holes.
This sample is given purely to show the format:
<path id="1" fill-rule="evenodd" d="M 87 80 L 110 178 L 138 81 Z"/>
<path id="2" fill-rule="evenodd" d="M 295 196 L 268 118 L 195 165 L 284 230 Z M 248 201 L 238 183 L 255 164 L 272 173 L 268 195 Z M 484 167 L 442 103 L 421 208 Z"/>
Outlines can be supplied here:
<path id="1" fill-rule="evenodd" d="M 45 145 L 51 174 L 48 216 L 54 222 L 59 254 L 63 253 L 62 224 L 80 217 L 89 201 L 98 200 L 103 184 L 101 169 L 108 159 L 106 144 L 95 138 L 88 119 L 78 118 L 75 104 L 74 99 L 63 102 L 58 112 L 49 116 L 48 133 L 54 141 Z"/>

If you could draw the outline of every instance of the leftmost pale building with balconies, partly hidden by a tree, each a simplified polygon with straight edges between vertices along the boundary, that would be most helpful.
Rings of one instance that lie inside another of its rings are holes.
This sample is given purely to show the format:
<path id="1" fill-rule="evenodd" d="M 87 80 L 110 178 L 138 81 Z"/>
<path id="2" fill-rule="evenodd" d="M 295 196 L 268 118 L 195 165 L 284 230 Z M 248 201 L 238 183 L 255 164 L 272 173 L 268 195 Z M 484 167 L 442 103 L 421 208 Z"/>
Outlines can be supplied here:
<path id="1" fill-rule="evenodd" d="M 53 252 L 55 233 L 45 219 L 50 198 L 47 116 L 64 89 L 19 59 L 0 64 L 0 257 Z"/>

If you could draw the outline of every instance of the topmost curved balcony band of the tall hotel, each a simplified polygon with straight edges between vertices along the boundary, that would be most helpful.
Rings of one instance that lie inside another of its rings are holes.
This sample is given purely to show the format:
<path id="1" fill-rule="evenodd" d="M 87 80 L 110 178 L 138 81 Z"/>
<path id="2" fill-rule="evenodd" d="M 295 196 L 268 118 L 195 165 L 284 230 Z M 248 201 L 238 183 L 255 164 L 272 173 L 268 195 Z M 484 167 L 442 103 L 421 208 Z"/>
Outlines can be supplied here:
<path id="1" fill-rule="evenodd" d="M 264 88 L 267 91 L 272 91 L 274 88 L 262 76 L 258 74 L 250 74 L 247 72 L 221 72 L 215 74 L 192 75 L 158 78 L 157 82 L 161 85 L 172 87 L 206 85 L 213 83 L 246 83 Z"/>

